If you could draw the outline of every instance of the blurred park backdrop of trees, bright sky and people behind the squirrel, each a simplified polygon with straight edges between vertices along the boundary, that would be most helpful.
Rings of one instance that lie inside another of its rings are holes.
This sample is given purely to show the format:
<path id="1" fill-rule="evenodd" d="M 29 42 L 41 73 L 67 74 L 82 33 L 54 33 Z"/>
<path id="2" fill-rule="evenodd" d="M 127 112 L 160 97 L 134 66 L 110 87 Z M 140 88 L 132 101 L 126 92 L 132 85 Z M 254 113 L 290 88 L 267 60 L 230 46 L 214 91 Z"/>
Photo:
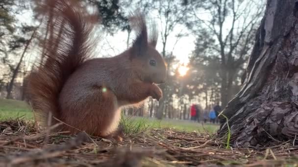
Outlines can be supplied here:
<path id="1" fill-rule="evenodd" d="M 0 0 L 0 105 L 24 101 L 24 84 L 42 52 L 50 24 L 40 0 Z M 210 121 L 241 89 L 265 0 L 79 0 L 102 18 L 95 57 L 123 52 L 134 39 L 129 12 L 158 25 L 157 50 L 168 63 L 164 98 L 149 98 L 128 116 Z M 48 25 L 42 26 L 42 21 Z M 53 40 L 58 40 L 53 39 Z M 2 110 L 4 111 L 4 110 Z M 212 120 L 211 120 L 212 122 Z M 213 123 L 216 123 L 214 121 Z"/>

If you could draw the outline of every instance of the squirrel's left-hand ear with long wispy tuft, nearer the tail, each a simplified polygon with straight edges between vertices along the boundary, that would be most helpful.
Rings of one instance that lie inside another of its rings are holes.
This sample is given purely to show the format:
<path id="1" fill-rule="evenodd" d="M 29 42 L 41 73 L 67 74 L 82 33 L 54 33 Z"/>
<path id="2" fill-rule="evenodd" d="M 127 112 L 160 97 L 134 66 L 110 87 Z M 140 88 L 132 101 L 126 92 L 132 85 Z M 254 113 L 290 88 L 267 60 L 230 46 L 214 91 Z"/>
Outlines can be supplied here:
<path id="1" fill-rule="evenodd" d="M 145 17 L 140 12 L 134 12 L 130 18 L 132 29 L 136 30 L 136 38 L 132 43 L 132 56 L 143 56 L 148 48 L 148 32 Z"/>

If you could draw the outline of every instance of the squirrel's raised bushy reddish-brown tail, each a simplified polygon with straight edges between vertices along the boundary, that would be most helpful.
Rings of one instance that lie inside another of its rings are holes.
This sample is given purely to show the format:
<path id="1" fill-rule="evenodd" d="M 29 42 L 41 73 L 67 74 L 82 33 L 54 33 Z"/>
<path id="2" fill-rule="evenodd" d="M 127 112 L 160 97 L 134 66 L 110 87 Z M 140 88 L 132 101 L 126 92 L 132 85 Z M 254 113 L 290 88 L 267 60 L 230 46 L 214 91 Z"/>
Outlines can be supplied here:
<path id="1" fill-rule="evenodd" d="M 69 76 L 89 58 L 95 43 L 89 41 L 90 33 L 98 20 L 76 0 L 46 0 L 41 9 L 48 12 L 49 35 L 36 68 L 27 78 L 25 92 L 37 121 L 47 123 L 50 113 L 59 119 L 59 93 Z"/>

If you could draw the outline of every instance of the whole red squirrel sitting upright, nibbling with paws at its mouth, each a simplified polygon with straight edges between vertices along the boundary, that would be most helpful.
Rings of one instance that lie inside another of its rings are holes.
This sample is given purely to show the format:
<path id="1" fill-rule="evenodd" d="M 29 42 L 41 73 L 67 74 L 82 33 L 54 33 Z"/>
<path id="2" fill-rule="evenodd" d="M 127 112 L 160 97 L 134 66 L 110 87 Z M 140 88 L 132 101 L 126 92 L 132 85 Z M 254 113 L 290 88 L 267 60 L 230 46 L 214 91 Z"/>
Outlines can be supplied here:
<path id="1" fill-rule="evenodd" d="M 54 20 L 50 33 L 62 34 L 47 41 L 40 56 L 44 61 L 27 79 L 28 101 L 40 124 L 47 125 L 51 113 L 51 125 L 63 123 L 59 131 L 107 137 L 117 131 L 123 107 L 149 96 L 162 98 L 157 84 L 166 82 L 167 65 L 155 49 L 156 27 L 148 35 L 144 15 L 133 16 L 137 35 L 130 48 L 114 57 L 91 59 L 94 15 L 71 0 L 47 3 Z"/>

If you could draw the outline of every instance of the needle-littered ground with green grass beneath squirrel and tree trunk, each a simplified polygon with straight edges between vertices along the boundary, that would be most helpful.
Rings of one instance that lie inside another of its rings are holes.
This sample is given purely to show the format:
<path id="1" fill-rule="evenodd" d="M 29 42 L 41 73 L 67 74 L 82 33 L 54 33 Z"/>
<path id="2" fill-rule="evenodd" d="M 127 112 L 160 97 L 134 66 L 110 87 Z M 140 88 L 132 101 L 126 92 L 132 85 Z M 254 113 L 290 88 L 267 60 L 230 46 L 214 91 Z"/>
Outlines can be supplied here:
<path id="1" fill-rule="evenodd" d="M 23 102 L 0 100 L 0 111 L 0 167 L 298 166 L 298 146 L 231 148 L 216 138 L 216 125 L 126 118 L 127 133 L 116 142 L 39 131 Z"/>

